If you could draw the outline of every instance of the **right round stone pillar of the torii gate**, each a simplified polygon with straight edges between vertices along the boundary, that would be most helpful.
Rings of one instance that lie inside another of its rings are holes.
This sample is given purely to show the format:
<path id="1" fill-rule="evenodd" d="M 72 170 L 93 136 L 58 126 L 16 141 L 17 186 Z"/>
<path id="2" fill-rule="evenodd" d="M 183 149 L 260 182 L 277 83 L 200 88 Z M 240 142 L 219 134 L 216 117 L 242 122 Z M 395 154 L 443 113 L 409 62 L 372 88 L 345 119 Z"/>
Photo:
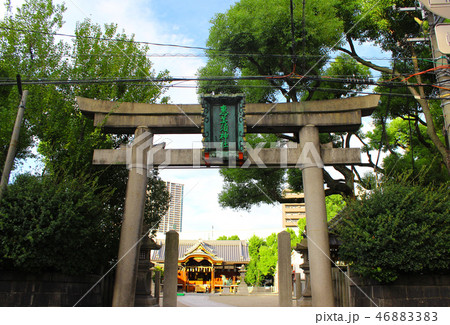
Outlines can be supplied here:
<path id="1" fill-rule="evenodd" d="M 300 130 L 300 148 L 303 150 L 305 146 L 315 149 L 320 155 L 319 130 L 314 125 L 304 126 Z M 315 161 L 314 157 L 318 155 L 312 156 L 310 163 L 302 166 L 312 306 L 334 307 L 323 164 Z"/>

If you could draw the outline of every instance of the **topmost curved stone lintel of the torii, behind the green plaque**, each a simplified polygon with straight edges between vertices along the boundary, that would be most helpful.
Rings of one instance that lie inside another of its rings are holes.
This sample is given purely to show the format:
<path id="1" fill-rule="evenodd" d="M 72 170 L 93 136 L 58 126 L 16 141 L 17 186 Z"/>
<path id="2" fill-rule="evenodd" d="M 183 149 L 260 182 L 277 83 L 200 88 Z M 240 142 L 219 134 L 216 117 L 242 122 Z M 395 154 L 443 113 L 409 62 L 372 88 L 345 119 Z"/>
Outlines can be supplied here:
<path id="1" fill-rule="evenodd" d="M 298 133 L 305 125 L 315 125 L 319 132 L 356 131 L 361 117 L 369 116 L 378 106 L 380 96 L 300 103 L 245 105 L 247 133 Z M 77 97 L 83 114 L 94 119 L 106 133 L 132 134 L 145 125 L 155 134 L 201 133 L 202 107 L 199 104 L 117 103 Z"/>

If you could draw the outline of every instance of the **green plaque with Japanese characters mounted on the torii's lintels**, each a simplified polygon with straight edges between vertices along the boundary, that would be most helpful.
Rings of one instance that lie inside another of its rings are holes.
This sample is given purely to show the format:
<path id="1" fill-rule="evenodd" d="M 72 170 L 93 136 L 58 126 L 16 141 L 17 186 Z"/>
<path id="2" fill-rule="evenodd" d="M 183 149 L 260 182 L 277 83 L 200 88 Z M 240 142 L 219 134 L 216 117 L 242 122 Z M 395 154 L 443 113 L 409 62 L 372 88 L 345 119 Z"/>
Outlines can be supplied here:
<path id="1" fill-rule="evenodd" d="M 245 143 L 243 95 L 202 97 L 202 134 L 206 160 L 243 160 Z"/>

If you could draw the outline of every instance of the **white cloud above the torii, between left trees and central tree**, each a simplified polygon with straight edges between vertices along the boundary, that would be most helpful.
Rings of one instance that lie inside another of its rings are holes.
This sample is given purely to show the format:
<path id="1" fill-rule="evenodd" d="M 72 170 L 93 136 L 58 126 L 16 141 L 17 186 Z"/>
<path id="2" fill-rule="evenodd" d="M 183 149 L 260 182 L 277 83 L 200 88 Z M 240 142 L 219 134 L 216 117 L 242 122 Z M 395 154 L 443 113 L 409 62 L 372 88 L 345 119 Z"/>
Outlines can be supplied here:
<path id="1" fill-rule="evenodd" d="M 142 0 L 103 0 L 88 1 L 76 0 L 66 1 L 68 7 L 66 14 L 66 25 L 68 33 L 73 33 L 77 21 L 86 18 L 92 19 L 94 23 L 117 23 L 119 30 L 125 30 L 128 35 L 134 34 L 136 41 L 177 44 L 192 46 L 192 37 L 183 33 L 177 25 L 175 19 L 161 20 L 152 10 L 155 1 Z M 186 32 L 186 31 L 184 31 Z M 180 49 L 172 47 L 150 46 L 150 53 L 179 53 Z M 188 49 L 183 49 L 183 53 L 190 53 Z M 197 51 L 198 52 L 198 51 Z M 154 70 L 168 70 L 171 76 L 185 77 L 194 76 L 197 70 L 205 64 L 199 57 L 174 58 L 174 57 L 151 57 Z M 195 83 L 183 84 L 194 85 Z M 169 88 L 166 95 L 170 96 L 171 102 L 176 104 L 197 103 L 195 88 Z"/>

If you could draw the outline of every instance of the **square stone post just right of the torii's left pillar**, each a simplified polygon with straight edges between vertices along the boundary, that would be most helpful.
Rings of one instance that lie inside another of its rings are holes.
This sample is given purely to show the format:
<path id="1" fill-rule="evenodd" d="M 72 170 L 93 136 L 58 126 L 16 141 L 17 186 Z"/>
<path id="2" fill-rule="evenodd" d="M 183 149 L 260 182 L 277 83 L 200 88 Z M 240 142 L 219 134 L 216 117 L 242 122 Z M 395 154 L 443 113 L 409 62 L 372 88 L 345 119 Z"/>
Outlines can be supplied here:
<path id="1" fill-rule="evenodd" d="M 179 235 L 175 230 L 170 230 L 166 233 L 166 247 L 164 251 L 163 307 L 177 306 L 178 242 Z"/>

